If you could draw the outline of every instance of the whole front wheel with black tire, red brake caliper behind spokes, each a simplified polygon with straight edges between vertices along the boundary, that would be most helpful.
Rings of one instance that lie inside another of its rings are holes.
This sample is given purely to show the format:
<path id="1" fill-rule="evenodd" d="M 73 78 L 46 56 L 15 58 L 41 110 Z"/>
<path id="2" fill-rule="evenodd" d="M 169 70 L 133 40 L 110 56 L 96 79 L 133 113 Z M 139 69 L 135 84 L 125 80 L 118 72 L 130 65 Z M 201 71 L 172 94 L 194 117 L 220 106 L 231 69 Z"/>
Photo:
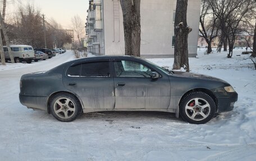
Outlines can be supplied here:
<path id="1" fill-rule="evenodd" d="M 180 116 L 189 123 L 206 123 L 213 118 L 215 112 L 213 98 L 202 91 L 193 91 L 181 99 Z"/>

